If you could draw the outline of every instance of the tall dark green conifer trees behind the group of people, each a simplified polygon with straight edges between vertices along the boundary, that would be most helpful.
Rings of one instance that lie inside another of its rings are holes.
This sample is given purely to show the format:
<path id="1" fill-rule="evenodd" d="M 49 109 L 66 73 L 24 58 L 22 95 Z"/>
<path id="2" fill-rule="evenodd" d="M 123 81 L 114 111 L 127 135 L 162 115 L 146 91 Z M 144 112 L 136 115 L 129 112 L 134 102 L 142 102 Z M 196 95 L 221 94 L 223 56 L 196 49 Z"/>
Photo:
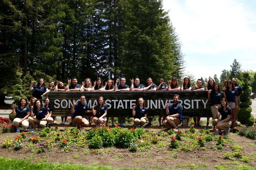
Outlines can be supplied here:
<path id="1" fill-rule="evenodd" d="M 1 104 L 6 95 L 30 96 L 30 81 L 39 78 L 77 77 L 81 84 L 123 75 L 130 85 L 135 77 L 158 84 L 185 76 L 181 42 L 162 1 L 0 0 L 0 6 Z M 242 81 L 241 64 L 234 59 L 230 67 L 214 76 L 217 83 Z M 249 75 L 255 92 L 256 72 Z"/>

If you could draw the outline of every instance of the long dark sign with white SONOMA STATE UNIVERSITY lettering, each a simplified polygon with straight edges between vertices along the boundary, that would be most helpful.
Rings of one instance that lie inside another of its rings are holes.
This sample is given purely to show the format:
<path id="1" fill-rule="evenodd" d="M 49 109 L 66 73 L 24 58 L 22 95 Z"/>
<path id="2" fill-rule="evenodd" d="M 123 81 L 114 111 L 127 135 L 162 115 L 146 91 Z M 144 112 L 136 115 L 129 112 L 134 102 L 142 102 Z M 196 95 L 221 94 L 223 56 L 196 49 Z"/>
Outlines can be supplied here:
<path id="1" fill-rule="evenodd" d="M 132 107 L 139 98 L 143 98 L 150 115 L 165 115 L 167 103 L 173 102 L 173 95 L 179 94 L 179 102 L 183 106 L 183 115 L 211 117 L 210 105 L 207 99 L 208 91 L 102 91 L 102 92 L 55 92 L 49 93 L 54 115 L 72 115 L 73 101 L 79 102 L 81 94 L 86 95 L 89 108 L 97 104 L 99 96 L 103 96 L 108 106 L 108 116 L 130 116 Z"/>

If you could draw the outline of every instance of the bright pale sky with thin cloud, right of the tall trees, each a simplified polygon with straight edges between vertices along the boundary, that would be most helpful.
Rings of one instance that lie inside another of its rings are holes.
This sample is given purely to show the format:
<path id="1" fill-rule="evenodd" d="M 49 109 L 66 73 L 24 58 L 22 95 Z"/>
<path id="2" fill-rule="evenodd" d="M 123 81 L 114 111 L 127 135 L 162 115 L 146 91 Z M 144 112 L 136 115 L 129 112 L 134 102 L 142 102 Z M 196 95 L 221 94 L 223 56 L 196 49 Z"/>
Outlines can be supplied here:
<path id="1" fill-rule="evenodd" d="M 178 35 L 185 75 L 220 78 L 234 59 L 256 71 L 256 0 L 163 0 Z"/>

